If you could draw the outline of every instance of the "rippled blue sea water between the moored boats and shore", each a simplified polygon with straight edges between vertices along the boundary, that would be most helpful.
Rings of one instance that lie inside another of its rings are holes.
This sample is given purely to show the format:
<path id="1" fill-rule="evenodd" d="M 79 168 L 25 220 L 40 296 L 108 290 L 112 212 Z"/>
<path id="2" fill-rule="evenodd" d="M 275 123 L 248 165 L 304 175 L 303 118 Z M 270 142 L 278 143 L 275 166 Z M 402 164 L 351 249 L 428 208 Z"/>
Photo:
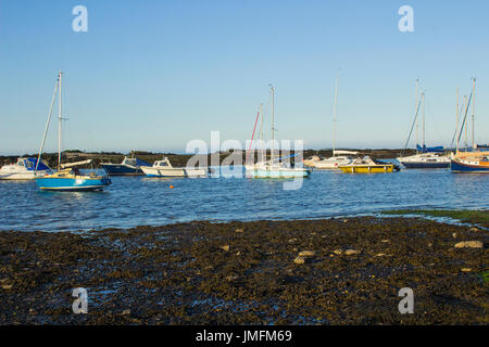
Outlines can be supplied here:
<path id="1" fill-rule="evenodd" d="M 88 230 L 191 220 L 305 219 L 397 208 L 489 208 L 489 176 L 444 169 L 349 175 L 315 170 L 302 188 L 284 180 L 113 177 L 103 192 L 42 192 L 0 181 L 1 230 Z M 174 185 L 174 189 L 170 189 Z"/>

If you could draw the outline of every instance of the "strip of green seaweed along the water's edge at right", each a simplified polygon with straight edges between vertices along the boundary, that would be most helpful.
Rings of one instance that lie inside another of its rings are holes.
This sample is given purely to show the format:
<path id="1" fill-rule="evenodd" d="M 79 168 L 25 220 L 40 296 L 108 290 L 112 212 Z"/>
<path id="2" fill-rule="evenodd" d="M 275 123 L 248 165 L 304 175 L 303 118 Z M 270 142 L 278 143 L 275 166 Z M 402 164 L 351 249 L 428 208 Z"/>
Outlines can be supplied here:
<path id="1" fill-rule="evenodd" d="M 477 223 L 489 228 L 489 210 L 474 209 L 392 209 L 383 211 L 383 215 L 422 215 L 427 217 L 448 217 L 463 222 Z"/>

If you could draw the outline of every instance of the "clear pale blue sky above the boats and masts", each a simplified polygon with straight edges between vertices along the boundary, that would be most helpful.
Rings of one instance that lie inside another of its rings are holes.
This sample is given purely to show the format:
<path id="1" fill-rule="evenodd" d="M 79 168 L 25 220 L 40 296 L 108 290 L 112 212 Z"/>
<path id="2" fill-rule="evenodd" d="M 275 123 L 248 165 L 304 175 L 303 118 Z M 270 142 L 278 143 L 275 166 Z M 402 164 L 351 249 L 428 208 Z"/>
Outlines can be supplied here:
<path id="1" fill-rule="evenodd" d="M 88 33 L 72 30 L 78 4 Z M 404 4 L 414 33 L 398 29 Z M 455 88 L 469 94 L 473 76 L 487 143 L 488 15 L 486 0 L 0 0 L 0 153 L 38 151 L 60 69 L 64 149 L 183 152 L 211 130 L 244 141 L 268 83 L 277 137 L 329 147 L 339 68 L 339 146 L 403 146 L 416 78 L 427 143 L 450 145 Z"/>

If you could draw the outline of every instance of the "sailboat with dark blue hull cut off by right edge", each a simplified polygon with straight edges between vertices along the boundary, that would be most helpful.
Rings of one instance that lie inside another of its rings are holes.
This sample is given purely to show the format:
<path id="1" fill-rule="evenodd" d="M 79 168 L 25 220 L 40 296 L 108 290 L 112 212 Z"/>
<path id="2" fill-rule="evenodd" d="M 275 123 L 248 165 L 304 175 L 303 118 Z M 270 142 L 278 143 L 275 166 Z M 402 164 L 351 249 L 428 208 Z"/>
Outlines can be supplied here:
<path id="1" fill-rule="evenodd" d="M 473 78 L 471 97 L 465 107 L 464 119 L 462 121 L 462 126 L 460 128 L 460 133 L 456 141 L 456 153 L 450 163 L 450 168 L 452 172 L 455 174 L 489 174 L 489 151 L 482 151 L 482 149 L 477 146 L 477 144 L 475 143 L 475 106 L 474 102 L 472 102 L 474 95 L 475 95 L 475 78 Z M 461 151 L 460 139 L 462 137 L 462 132 L 464 131 L 464 129 L 465 129 L 465 137 L 467 138 L 466 119 L 471 102 L 472 102 L 472 149 Z"/>

